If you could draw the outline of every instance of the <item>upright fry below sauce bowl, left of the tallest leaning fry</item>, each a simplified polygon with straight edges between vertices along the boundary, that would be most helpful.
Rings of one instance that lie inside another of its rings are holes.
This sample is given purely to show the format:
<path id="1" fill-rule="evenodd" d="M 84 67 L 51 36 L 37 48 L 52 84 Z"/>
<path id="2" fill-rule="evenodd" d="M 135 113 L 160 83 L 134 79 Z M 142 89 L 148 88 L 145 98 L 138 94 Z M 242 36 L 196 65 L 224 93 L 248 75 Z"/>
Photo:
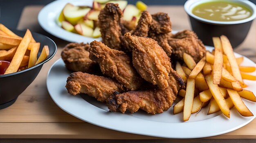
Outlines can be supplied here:
<path id="1" fill-rule="evenodd" d="M 223 55 L 222 45 L 219 37 L 213 37 L 213 44 L 215 48 L 214 63 L 213 63 L 213 84 L 220 84 L 222 67 L 223 67 Z"/>

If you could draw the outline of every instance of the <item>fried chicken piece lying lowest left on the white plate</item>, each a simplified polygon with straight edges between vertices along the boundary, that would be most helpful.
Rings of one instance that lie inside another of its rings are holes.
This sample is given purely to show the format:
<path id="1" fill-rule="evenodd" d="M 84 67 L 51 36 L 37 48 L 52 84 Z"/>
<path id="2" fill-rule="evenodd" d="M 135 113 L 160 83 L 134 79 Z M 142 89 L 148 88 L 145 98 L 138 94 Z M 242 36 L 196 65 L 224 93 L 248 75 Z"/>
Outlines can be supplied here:
<path id="1" fill-rule="evenodd" d="M 114 91 L 124 91 L 122 85 L 115 80 L 82 72 L 71 73 L 65 87 L 72 95 L 85 93 L 100 102 L 106 102 Z"/>

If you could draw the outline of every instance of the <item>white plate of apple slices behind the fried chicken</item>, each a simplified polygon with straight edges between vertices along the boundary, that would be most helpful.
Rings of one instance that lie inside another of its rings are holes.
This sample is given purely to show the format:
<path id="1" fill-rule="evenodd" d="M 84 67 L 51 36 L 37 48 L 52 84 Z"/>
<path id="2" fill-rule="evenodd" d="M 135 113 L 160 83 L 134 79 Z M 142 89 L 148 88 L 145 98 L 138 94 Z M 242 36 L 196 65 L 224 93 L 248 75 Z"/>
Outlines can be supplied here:
<path id="1" fill-rule="evenodd" d="M 99 10 L 104 6 L 103 2 L 114 1 L 56 0 L 39 12 L 38 22 L 50 34 L 69 42 L 101 41 L 99 27 L 94 24 L 97 23 Z M 136 6 L 127 4 L 125 0 L 117 0 L 115 3 L 119 3 L 120 9 L 124 11 L 123 19 L 139 19 L 140 10 Z"/>

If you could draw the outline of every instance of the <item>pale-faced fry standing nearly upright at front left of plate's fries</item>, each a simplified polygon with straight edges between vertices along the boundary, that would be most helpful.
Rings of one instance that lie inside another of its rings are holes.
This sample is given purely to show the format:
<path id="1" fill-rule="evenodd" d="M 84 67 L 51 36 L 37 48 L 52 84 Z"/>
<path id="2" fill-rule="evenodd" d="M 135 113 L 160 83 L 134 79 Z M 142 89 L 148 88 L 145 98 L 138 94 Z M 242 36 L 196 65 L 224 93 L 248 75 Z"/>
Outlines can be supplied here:
<path id="1" fill-rule="evenodd" d="M 188 79 L 186 85 L 186 95 L 184 98 L 183 121 L 188 121 L 193 107 L 195 93 L 195 80 Z"/>

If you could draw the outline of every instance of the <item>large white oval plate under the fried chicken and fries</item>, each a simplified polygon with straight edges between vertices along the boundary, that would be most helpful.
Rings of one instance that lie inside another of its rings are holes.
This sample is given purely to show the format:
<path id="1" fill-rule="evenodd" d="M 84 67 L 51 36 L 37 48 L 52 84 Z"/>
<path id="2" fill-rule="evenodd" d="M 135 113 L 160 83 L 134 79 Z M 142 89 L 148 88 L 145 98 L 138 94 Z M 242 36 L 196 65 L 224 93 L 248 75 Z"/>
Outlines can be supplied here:
<path id="1" fill-rule="evenodd" d="M 212 50 L 207 46 L 207 50 Z M 240 54 L 235 54 L 237 57 Z M 242 65 L 255 66 L 256 64 L 244 57 Z M 256 72 L 252 73 L 255 75 Z M 128 132 L 164 138 L 201 138 L 216 136 L 241 128 L 252 121 L 254 117 L 243 117 L 236 108 L 232 108 L 230 119 L 221 114 L 221 111 L 207 115 L 209 106 L 202 108 L 199 113 L 192 114 L 189 121 L 182 121 L 182 113 L 173 115 L 173 107 L 162 114 L 149 115 L 144 111 L 137 113 L 110 113 L 105 104 L 98 102 L 85 94 L 70 95 L 65 88 L 70 71 L 65 68 L 62 59 L 56 61 L 48 72 L 47 89 L 54 102 L 64 111 L 88 123 Z M 256 82 L 245 80 L 247 88 L 256 94 Z M 256 104 L 244 100 L 246 106 L 256 115 Z M 174 105 L 174 104 L 173 104 Z"/>

